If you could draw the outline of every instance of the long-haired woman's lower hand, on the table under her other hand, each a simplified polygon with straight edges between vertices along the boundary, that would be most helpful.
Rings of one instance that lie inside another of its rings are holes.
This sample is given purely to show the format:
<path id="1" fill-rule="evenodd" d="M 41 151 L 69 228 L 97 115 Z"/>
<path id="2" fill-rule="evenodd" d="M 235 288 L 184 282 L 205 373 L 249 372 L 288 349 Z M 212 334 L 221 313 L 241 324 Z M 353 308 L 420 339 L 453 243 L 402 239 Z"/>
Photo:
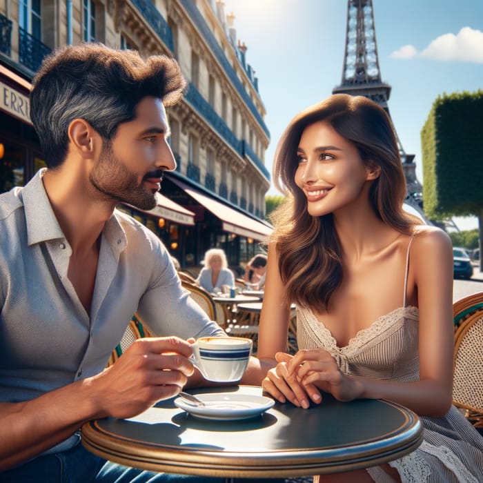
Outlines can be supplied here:
<path id="1" fill-rule="evenodd" d="M 264 391 L 279 402 L 290 401 L 295 406 L 304 409 L 310 406 L 309 396 L 317 404 L 322 400 L 318 389 L 313 384 L 306 386 L 301 384 L 294 371 L 289 375 L 288 364 L 293 359 L 292 355 L 279 352 L 275 358 L 278 362 L 277 366 L 270 369 L 262 381 Z"/>

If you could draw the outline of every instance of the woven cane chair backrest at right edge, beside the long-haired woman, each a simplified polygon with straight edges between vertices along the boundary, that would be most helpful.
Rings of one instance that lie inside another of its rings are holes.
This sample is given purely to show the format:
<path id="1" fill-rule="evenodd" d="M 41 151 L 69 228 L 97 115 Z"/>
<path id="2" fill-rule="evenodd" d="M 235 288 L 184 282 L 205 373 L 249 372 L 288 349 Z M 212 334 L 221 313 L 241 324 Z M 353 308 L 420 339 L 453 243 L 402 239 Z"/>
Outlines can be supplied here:
<path id="1" fill-rule="evenodd" d="M 453 403 L 483 413 L 483 311 L 467 317 L 455 333 Z"/>

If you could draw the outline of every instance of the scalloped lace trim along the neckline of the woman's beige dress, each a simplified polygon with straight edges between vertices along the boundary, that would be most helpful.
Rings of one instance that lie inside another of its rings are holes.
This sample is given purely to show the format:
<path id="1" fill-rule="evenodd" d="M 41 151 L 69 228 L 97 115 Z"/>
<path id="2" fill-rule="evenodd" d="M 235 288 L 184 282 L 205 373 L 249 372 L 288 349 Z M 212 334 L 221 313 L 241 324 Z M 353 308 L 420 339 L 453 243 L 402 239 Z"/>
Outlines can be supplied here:
<path id="1" fill-rule="evenodd" d="M 344 353 L 347 357 L 350 357 L 356 353 L 359 353 L 360 348 L 365 346 L 372 339 L 375 339 L 382 333 L 388 331 L 389 328 L 397 330 L 404 324 L 406 318 L 413 319 L 415 322 L 419 321 L 419 310 L 417 307 L 399 307 L 394 311 L 381 315 L 378 317 L 371 326 L 361 329 L 355 334 L 355 336 L 349 340 L 348 344 L 344 347 L 337 346 L 337 341 L 331 334 L 331 331 L 320 322 L 309 308 L 299 308 L 298 317 L 302 319 L 305 331 L 307 334 L 312 334 L 312 339 L 326 348 L 331 353 Z M 298 321 L 297 321 L 298 322 Z"/>

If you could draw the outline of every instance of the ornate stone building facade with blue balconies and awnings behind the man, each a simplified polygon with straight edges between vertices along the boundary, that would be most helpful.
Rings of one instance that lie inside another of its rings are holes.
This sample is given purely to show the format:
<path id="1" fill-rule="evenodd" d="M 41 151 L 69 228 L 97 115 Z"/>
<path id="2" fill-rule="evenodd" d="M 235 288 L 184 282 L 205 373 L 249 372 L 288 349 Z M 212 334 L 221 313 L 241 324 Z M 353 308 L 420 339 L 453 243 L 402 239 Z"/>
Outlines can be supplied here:
<path id="1" fill-rule="evenodd" d="M 30 81 L 59 46 L 100 41 L 143 57 L 175 57 L 188 81 L 168 108 L 177 160 L 155 210 L 131 213 L 164 241 L 181 266 L 208 248 L 244 264 L 266 239 L 264 155 L 270 133 L 257 78 L 218 0 L 18 0 L 0 2 L 0 192 L 45 166 L 28 115 Z"/>

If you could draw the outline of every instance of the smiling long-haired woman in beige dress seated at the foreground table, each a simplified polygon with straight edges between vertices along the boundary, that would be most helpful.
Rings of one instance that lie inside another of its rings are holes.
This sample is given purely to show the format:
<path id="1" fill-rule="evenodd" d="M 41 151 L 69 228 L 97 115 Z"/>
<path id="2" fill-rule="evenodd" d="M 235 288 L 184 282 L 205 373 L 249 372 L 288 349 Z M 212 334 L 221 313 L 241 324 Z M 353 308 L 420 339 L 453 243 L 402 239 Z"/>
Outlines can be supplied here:
<path id="1" fill-rule="evenodd" d="M 262 385 L 308 408 L 382 398 L 422 417 L 424 442 L 389 464 L 315 481 L 483 481 L 483 440 L 451 406 L 453 263 L 444 231 L 405 214 L 391 120 L 365 97 L 334 95 L 290 122 L 273 179 L 275 214 L 258 357 Z M 299 352 L 286 339 L 297 304 Z M 323 431 L 323 428 L 321 428 Z"/>

